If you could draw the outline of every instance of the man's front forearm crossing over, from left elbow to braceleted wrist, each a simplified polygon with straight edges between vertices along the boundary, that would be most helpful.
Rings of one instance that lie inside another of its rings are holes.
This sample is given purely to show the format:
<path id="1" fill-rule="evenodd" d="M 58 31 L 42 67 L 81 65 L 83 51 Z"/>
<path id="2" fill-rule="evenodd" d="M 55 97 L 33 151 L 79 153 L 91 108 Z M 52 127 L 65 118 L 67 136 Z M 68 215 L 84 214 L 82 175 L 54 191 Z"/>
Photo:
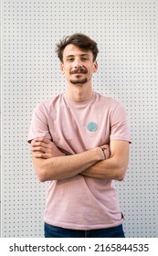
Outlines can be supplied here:
<path id="1" fill-rule="evenodd" d="M 77 176 L 91 165 L 102 160 L 100 148 L 94 148 L 84 153 L 68 156 L 57 156 L 48 159 L 33 157 L 33 163 L 40 181 L 65 179 Z"/>

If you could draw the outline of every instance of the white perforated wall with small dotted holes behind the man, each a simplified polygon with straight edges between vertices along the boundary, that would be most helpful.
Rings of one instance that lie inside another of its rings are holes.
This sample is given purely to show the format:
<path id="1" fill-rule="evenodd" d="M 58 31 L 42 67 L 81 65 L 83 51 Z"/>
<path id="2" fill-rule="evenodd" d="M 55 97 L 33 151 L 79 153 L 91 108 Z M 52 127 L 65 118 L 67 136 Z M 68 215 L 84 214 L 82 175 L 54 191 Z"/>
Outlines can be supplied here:
<path id="1" fill-rule="evenodd" d="M 2 237 L 42 237 L 46 184 L 26 144 L 39 101 L 64 91 L 55 44 L 98 41 L 94 89 L 124 102 L 131 160 L 117 183 L 127 237 L 158 237 L 157 0 L 2 1 Z"/>

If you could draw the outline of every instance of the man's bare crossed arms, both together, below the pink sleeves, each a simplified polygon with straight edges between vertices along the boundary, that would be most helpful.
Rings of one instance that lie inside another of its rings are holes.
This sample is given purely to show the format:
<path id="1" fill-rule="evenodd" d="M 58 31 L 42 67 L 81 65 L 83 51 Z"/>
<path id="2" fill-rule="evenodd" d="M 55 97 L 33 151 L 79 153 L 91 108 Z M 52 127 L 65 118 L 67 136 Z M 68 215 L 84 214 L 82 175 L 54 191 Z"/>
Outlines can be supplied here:
<path id="1" fill-rule="evenodd" d="M 77 175 L 121 181 L 129 162 L 129 142 L 126 141 L 111 141 L 110 146 L 102 145 L 106 148 L 106 159 L 100 147 L 65 156 L 56 144 L 45 138 L 33 140 L 31 146 L 33 164 L 42 182 Z"/>

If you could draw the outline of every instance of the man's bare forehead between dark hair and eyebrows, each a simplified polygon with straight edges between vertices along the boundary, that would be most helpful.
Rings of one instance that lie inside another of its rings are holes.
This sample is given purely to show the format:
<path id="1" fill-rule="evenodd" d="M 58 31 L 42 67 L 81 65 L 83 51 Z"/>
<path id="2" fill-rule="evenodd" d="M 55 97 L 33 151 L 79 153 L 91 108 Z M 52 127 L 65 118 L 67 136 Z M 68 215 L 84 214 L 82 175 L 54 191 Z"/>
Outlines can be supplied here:
<path id="1" fill-rule="evenodd" d="M 66 48 L 64 48 L 63 51 L 63 58 L 66 58 L 68 56 L 80 56 L 80 55 L 89 55 L 92 57 L 92 52 L 90 50 L 86 50 L 83 48 L 79 48 L 75 45 L 69 44 L 68 46 L 66 46 Z"/>

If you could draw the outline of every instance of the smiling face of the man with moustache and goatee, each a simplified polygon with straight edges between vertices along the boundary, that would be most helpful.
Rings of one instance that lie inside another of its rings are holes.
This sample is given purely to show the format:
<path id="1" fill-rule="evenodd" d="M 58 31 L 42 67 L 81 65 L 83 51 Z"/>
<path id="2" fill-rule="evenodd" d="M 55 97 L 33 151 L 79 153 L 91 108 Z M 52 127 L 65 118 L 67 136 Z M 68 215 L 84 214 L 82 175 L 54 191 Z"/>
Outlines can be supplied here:
<path id="1" fill-rule="evenodd" d="M 91 51 L 85 51 L 69 44 L 63 51 L 61 72 L 71 84 L 85 84 L 90 82 L 92 73 L 98 68 L 97 61 L 93 61 Z"/>

